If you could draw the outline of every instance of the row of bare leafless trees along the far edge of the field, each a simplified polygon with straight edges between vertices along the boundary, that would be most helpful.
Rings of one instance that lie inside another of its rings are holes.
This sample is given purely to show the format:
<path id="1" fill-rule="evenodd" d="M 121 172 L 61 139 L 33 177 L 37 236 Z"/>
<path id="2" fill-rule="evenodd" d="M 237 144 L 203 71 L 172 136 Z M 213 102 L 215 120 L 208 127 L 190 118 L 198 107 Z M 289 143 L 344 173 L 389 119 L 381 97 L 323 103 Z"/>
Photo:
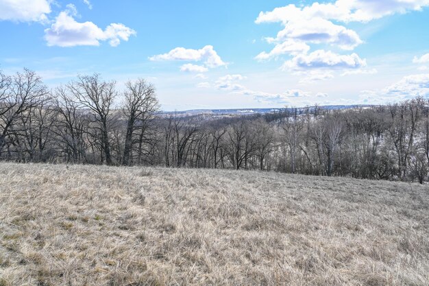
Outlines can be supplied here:
<path id="1" fill-rule="evenodd" d="M 154 86 L 119 93 L 97 74 L 49 91 L 36 73 L 0 72 L 0 159 L 19 162 L 261 169 L 428 180 L 429 102 L 266 115 L 159 112 Z"/>

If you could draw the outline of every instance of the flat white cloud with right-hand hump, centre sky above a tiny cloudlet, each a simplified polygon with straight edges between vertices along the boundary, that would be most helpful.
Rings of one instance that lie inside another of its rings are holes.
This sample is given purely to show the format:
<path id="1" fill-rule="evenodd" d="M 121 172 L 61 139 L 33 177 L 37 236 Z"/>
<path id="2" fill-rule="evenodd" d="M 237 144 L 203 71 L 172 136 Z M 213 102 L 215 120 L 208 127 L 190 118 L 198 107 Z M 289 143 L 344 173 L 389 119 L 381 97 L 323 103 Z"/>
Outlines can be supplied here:
<path id="1" fill-rule="evenodd" d="M 217 54 L 213 46 L 207 45 L 202 49 L 185 49 L 177 47 L 168 53 L 152 56 L 149 60 L 182 60 L 190 62 L 203 62 L 207 68 L 225 66 L 221 57 Z"/>

